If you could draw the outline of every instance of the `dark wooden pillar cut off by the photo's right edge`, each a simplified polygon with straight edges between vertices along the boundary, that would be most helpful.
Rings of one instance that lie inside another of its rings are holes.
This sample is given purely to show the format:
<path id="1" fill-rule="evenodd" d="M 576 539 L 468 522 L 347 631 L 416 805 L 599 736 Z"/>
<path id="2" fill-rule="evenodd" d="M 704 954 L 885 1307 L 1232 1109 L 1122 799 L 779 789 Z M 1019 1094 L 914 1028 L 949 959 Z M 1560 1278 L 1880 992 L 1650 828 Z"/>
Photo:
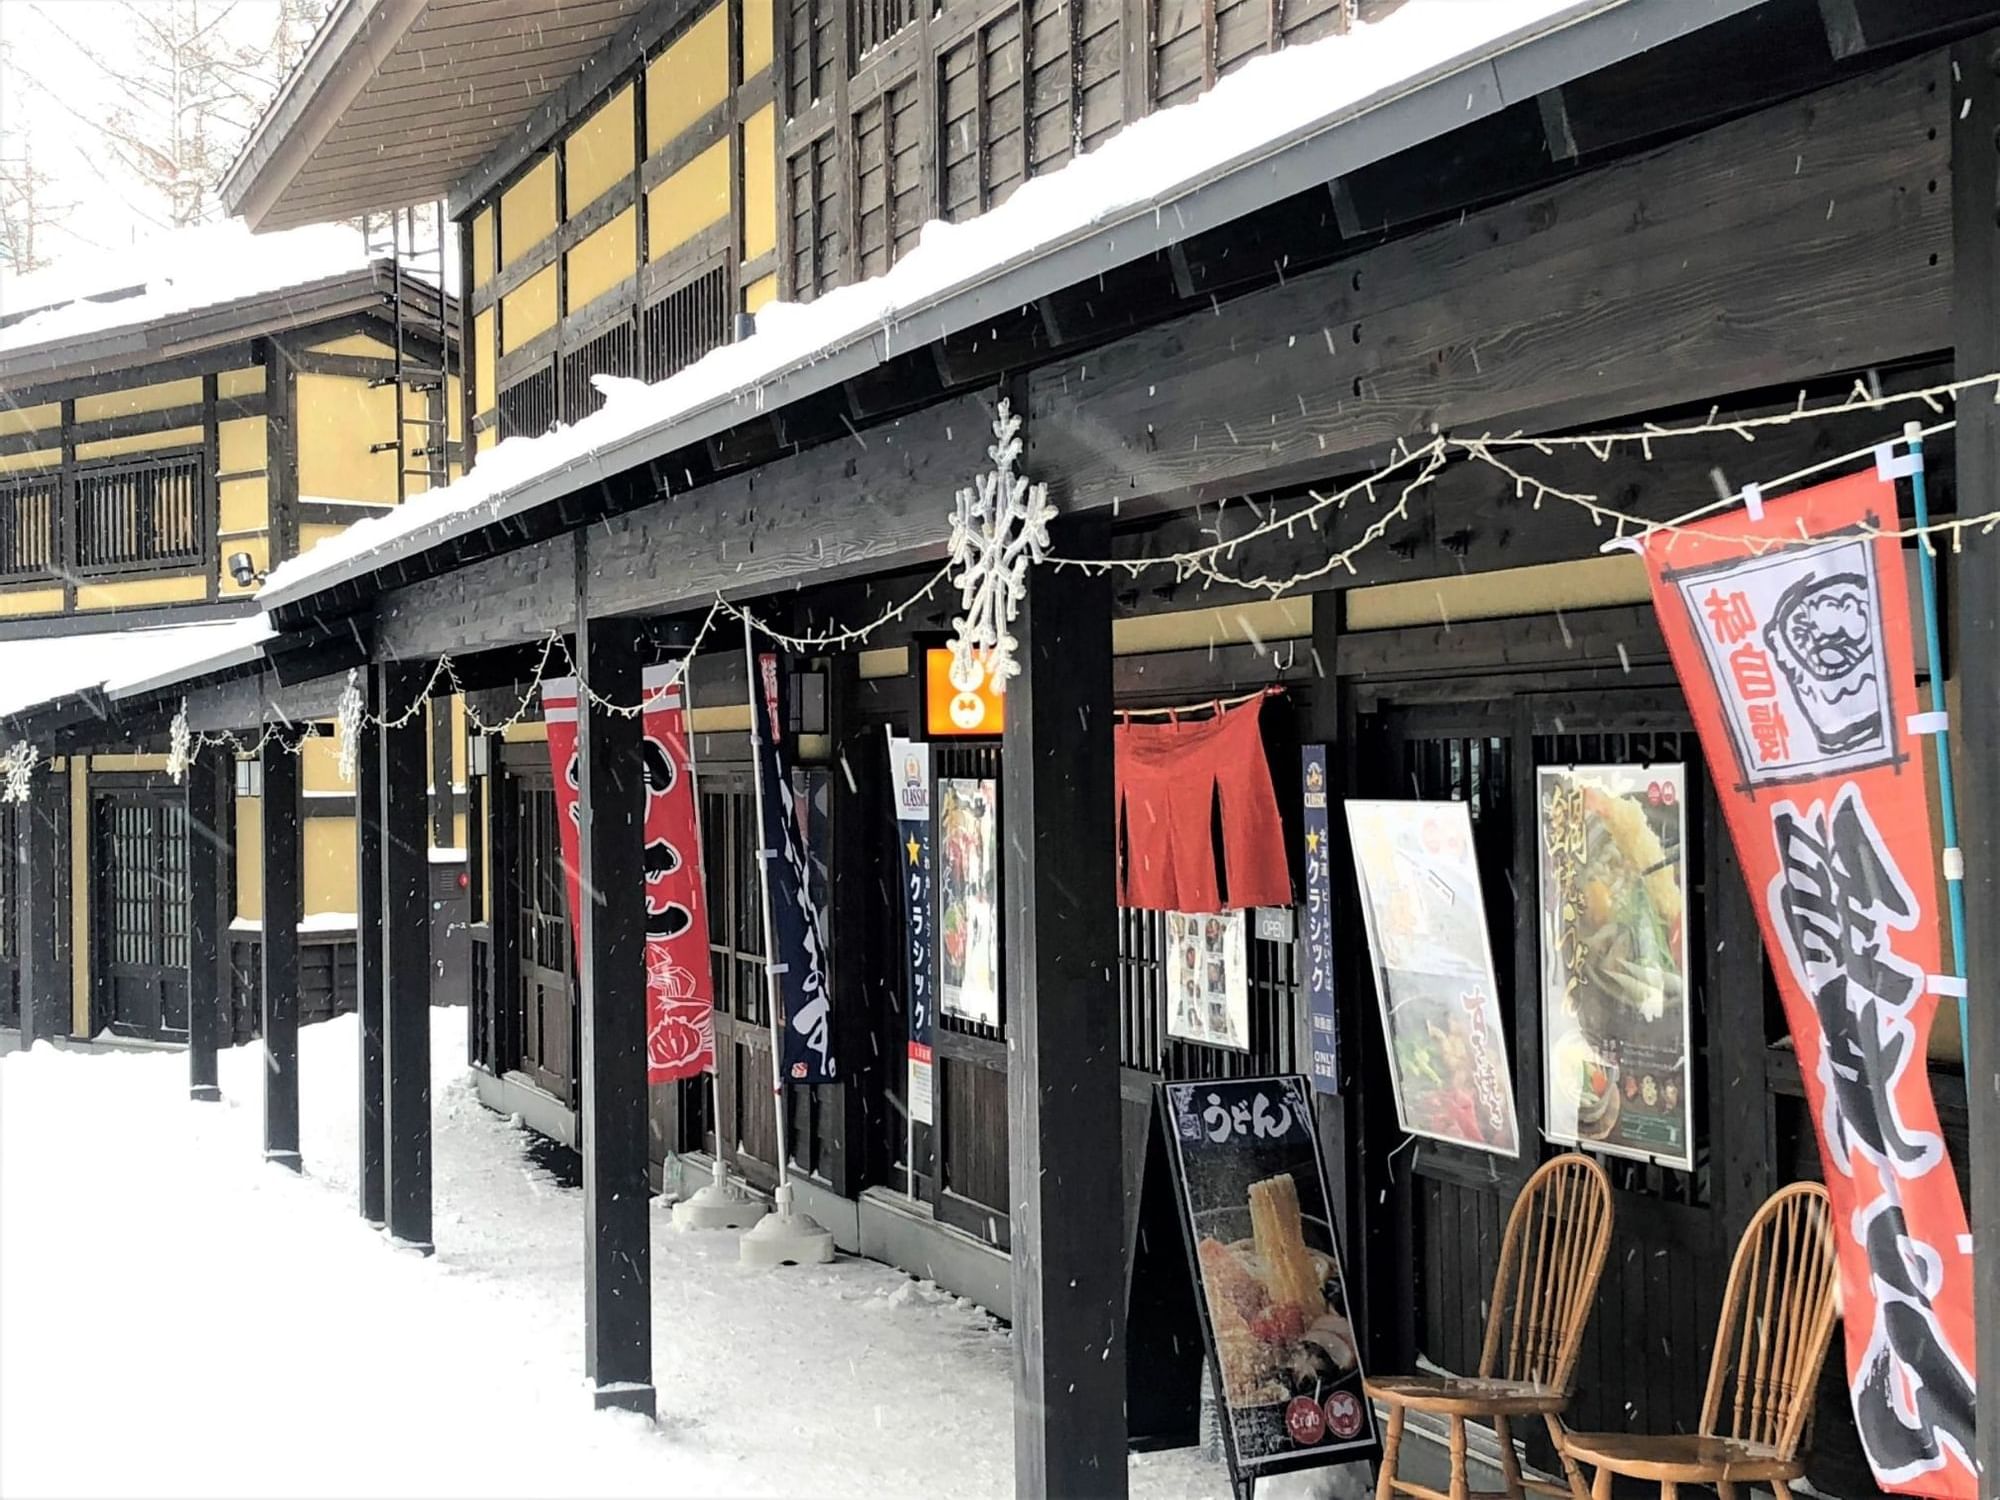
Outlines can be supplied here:
<path id="1" fill-rule="evenodd" d="M 1952 48 L 1952 328 L 1956 378 L 2000 370 L 2000 32 Z M 2000 410 L 1968 394 L 1958 416 L 1958 512 L 2000 506 Z M 1970 530 L 1958 554 L 1960 848 L 1966 858 L 1978 1464 L 2000 1486 L 2000 532 Z M 1950 598 L 1950 594 L 1948 594 Z"/>

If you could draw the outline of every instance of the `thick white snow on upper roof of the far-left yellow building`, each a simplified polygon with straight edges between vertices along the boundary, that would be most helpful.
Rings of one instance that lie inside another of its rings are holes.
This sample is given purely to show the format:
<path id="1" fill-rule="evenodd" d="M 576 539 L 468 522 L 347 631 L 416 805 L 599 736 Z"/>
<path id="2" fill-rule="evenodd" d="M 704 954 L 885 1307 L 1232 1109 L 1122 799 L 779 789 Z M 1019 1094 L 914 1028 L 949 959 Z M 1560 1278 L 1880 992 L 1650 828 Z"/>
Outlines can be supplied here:
<path id="1" fill-rule="evenodd" d="M 368 266 L 368 248 L 352 226 L 250 234 L 236 218 L 126 250 L 72 256 L 48 270 L 0 276 L 0 316 L 12 318 L 0 326 L 0 360 L 16 350 L 268 298 Z M 22 312 L 28 316 L 18 318 Z"/>

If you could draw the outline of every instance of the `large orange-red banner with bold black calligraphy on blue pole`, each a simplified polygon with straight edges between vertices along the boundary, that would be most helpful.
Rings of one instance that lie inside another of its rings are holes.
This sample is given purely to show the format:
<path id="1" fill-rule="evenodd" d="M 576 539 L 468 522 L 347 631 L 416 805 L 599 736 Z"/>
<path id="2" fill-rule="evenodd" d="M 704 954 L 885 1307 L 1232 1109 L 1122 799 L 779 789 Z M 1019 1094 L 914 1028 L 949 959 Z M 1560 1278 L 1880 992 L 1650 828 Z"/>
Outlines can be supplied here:
<path id="1" fill-rule="evenodd" d="M 1896 488 L 1652 532 L 1652 600 L 1778 974 L 1876 1480 L 1976 1500 L 1972 1238 L 1930 1098 L 1936 864 Z M 1742 996 L 1736 996 L 1744 1002 Z M 1744 1002 L 1746 1004 L 1746 1002 Z"/>

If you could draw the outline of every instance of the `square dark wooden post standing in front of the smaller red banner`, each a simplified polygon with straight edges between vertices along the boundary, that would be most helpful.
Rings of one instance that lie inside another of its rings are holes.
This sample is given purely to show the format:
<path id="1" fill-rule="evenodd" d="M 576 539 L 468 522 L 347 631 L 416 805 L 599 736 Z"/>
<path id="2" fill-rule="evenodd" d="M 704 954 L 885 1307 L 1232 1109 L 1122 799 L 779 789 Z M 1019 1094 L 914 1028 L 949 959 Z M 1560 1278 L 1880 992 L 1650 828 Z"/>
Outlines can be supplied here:
<path id="1" fill-rule="evenodd" d="M 588 620 L 578 594 L 576 700 L 584 1138 L 584 1374 L 598 1408 L 654 1414 L 652 1222 L 646 1212 L 646 776 L 634 620 Z"/>

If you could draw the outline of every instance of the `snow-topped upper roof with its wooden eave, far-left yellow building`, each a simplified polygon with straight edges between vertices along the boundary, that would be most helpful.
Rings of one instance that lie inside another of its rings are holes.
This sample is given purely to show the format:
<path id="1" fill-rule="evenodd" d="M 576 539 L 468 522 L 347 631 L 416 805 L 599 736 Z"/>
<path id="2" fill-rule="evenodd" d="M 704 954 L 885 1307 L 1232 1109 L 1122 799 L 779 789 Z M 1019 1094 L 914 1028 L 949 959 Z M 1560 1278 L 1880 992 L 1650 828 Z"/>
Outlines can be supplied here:
<path id="1" fill-rule="evenodd" d="M 0 280 L 0 382 L 192 354 L 246 330 L 376 310 L 388 292 L 344 224 L 252 236 L 240 220 Z"/>

